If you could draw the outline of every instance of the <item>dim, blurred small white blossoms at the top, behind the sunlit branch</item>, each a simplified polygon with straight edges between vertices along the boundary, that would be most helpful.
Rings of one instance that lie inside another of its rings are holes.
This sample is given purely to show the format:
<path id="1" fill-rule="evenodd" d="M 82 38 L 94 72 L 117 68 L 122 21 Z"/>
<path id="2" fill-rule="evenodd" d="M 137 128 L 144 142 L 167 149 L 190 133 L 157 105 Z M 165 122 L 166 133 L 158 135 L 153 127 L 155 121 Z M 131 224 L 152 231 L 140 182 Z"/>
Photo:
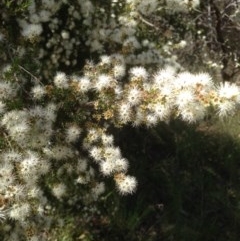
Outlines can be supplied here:
<path id="1" fill-rule="evenodd" d="M 146 25 L 145 17 L 160 8 L 160 1 L 109 1 L 108 4 L 84 0 L 74 4 L 68 1 L 31 1 L 17 23 L 21 36 L 39 43 L 37 58 L 44 59 L 43 75 L 61 66 L 79 65 L 82 56 L 103 54 L 106 49 L 121 51 L 128 64 L 175 63 L 171 55 L 156 47 L 154 41 L 138 39 L 139 26 Z M 121 14 L 119 14 L 121 12 Z"/>

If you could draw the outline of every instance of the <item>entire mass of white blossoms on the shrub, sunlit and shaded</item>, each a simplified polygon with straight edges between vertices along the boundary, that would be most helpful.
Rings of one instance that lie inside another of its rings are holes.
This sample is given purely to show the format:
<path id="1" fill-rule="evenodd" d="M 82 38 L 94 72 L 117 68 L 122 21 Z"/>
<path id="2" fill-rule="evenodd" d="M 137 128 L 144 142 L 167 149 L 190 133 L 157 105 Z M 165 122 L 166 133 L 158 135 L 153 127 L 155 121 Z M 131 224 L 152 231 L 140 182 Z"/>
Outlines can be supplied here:
<path id="1" fill-rule="evenodd" d="M 108 3 L 32 0 L 16 16 L 3 11 L 0 222 L 6 241 L 57 240 L 51 229 L 66 224 L 59 206 L 96 203 L 112 192 L 105 178 L 120 195 L 133 194 L 138 181 L 115 140 L 124 125 L 196 124 L 209 113 L 226 118 L 239 108 L 239 86 L 187 71 L 172 49 L 189 42 L 174 43 L 174 33 L 161 29 L 161 11 L 187 13 L 199 0 Z M 14 17 L 9 34 L 6 23 Z M 166 42 L 156 41 L 159 32 Z"/>

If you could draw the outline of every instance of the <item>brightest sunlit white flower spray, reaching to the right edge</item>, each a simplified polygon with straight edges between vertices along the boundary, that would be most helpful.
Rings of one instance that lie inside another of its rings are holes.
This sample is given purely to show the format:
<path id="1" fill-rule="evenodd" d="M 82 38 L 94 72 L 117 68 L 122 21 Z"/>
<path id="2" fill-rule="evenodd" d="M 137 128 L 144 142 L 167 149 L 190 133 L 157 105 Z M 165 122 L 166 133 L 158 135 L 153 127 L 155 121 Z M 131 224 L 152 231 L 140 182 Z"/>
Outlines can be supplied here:
<path id="1" fill-rule="evenodd" d="M 132 67 L 129 81 L 123 85 L 116 80 L 115 69 L 125 69 L 123 56 L 109 56 L 109 63 L 101 61 L 86 71 L 85 78 L 94 86 L 98 96 L 95 109 L 101 110 L 102 118 L 116 125 L 132 123 L 134 126 L 154 126 L 160 121 L 180 118 L 188 123 L 201 121 L 212 109 L 225 117 L 233 114 L 239 105 L 239 87 L 234 83 L 217 85 L 207 73 L 177 73 L 172 67 L 148 73 L 144 67 Z M 98 71 L 104 68 L 109 75 L 102 76 Z M 94 69 L 94 71 L 93 71 Z"/>

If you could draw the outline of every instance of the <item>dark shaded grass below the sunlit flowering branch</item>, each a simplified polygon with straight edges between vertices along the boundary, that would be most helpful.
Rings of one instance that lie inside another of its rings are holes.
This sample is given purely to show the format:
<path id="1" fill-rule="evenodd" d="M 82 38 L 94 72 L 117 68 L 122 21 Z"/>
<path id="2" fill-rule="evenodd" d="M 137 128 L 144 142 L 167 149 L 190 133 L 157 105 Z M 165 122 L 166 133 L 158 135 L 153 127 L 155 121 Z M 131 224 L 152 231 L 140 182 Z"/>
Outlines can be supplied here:
<path id="1" fill-rule="evenodd" d="M 113 226 L 120 233 L 130 240 L 239 239 L 239 142 L 211 128 L 172 123 L 151 134 L 123 131 L 119 139 L 132 144 L 120 146 L 140 184 L 135 197 L 119 201 Z"/>

